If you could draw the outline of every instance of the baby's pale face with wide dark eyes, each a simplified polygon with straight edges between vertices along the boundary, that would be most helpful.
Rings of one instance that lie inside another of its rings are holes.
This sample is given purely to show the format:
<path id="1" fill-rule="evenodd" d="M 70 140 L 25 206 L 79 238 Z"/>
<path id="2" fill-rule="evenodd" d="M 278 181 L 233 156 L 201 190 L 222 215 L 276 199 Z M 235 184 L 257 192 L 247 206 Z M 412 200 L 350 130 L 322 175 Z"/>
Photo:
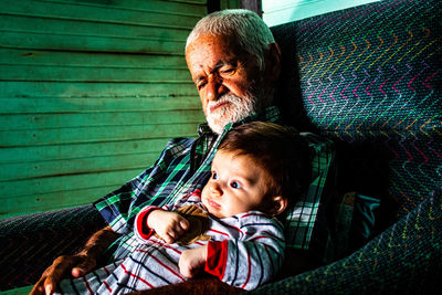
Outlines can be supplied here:
<path id="1" fill-rule="evenodd" d="M 212 176 L 204 186 L 201 200 L 217 218 L 232 217 L 269 207 L 267 172 L 249 156 L 218 151 L 212 162 Z"/>

